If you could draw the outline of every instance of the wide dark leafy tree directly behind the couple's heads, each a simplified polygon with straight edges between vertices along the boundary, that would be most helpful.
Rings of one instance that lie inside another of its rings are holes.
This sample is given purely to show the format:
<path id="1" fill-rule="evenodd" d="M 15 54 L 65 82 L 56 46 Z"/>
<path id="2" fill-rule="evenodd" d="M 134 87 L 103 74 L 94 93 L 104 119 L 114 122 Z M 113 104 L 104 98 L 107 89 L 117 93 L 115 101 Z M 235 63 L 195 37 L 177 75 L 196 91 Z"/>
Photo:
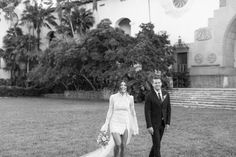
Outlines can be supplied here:
<path id="1" fill-rule="evenodd" d="M 167 84 L 174 63 L 167 33 L 156 34 L 154 25 L 147 23 L 141 24 L 141 31 L 132 38 L 110 24 L 103 20 L 83 43 L 84 73 L 93 78 L 93 84 L 114 89 L 119 79 L 126 79 L 136 100 L 143 99 L 150 88 L 150 75 L 161 72 Z"/>

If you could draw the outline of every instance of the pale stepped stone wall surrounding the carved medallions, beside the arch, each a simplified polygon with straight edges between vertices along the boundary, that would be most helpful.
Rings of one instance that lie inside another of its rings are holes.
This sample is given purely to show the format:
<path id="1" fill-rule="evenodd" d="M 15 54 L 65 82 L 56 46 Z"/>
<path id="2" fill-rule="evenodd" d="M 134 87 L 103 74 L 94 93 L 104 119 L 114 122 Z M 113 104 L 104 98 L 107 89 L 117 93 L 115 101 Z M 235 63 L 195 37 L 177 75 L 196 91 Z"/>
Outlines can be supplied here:
<path id="1" fill-rule="evenodd" d="M 226 7 L 221 7 L 214 11 L 214 17 L 208 20 L 208 27 L 203 29 L 208 30 L 211 37 L 207 40 L 197 40 L 195 31 L 195 41 L 191 45 L 191 58 L 190 65 L 202 66 L 202 65 L 219 65 L 220 67 L 233 65 L 232 56 L 227 54 L 227 50 L 224 49 L 226 44 L 226 36 L 228 29 L 231 27 L 236 15 L 236 3 L 235 0 L 227 0 Z M 235 29 L 236 31 L 236 29 Z M 204 33 L 204 32 L 203 32 Z M 196 55 L 202 55 L 202 62 L 196 61 Z M 210 55 L 215 55 L 215 61 L 213 62 Z"/>

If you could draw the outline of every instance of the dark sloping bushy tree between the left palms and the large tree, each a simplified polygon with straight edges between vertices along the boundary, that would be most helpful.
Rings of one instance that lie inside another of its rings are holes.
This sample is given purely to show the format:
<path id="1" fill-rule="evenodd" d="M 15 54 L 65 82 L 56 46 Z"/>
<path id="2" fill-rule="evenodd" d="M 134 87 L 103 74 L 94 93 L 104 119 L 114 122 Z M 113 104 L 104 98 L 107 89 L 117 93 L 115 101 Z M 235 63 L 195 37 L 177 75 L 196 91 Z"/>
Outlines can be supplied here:
<path id="1" fill-rule="evenodd" d="M 44 52 L 40 64 L 31 71 L 29 79 L 40 87 L 53 88 L 56 85 L 63 85 L 66 90 L 78 89 L 87 82 L 94 89 L 81 72 L 82 68 L 83 64 L 75 41 L 58 39 Z"/>

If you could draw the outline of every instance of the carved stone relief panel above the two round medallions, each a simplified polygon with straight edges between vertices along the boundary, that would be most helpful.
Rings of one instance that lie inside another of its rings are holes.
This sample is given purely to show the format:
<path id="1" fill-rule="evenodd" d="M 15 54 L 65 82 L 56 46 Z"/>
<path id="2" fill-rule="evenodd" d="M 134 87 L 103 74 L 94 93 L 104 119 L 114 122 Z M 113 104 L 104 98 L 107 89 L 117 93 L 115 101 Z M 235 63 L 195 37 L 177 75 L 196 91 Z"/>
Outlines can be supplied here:
<path id="1" fill-rule="evenodd" d="M 212 38 L 212 35 L 209 28 L 200 28 L 195 31 L 195 39 L 197 41 L 209 40 L 211 38 Z"/>

